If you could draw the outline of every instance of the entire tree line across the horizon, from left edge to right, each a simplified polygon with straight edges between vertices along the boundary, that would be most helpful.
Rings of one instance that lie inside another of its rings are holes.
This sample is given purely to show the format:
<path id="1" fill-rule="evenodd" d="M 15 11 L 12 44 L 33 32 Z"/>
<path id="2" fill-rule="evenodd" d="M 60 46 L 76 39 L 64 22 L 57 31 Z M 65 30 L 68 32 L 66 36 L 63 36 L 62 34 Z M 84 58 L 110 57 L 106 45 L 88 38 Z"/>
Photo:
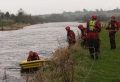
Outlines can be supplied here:
<path id="1" fill-rule="evenodd" d="M 116 15 L 116 19 L 120 20 L 120 9 L 116 8 L 113 10 L 103 10 L 96 9 L 95 11 L 88 11 L 83 9 L 83 11 L 75 12 L 63 12 L 60 14 L 45 14 L 45 15 L 36 15 L 32 16 L 31 14 L 26 14 L 23 9 L 19 9 L 18 13 L 10 14 L 9 12 L 0 11 L 0 26 L 10 25 L 14 23 L 44 23 L 44 22 L 70 22 L 70 21 L 80 21 L 86 22 L 91 19 L 92 14 L 98 15 L 99 21 L 108 21 L 110 20 L 111 15 Z"/>

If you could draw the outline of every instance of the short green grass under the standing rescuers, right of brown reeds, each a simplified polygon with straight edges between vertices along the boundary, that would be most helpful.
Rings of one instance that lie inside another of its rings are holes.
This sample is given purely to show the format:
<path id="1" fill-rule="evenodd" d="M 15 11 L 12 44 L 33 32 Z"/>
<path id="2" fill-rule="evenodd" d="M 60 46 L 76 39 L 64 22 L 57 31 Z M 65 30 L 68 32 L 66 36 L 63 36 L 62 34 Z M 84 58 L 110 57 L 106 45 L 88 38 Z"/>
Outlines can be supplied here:
<path id="1" fill-rule="evenodd" d="M 120 82 L 120 31 L 116 33 L 116 50 L 109 50 L 108 32 L 100 33 L 101 53 L 98 60 L 90 58 L 88 50 L 77 52 L 75 77 L 77 82 Z M 82 68 L 81 68 L 82 67 Z"/>

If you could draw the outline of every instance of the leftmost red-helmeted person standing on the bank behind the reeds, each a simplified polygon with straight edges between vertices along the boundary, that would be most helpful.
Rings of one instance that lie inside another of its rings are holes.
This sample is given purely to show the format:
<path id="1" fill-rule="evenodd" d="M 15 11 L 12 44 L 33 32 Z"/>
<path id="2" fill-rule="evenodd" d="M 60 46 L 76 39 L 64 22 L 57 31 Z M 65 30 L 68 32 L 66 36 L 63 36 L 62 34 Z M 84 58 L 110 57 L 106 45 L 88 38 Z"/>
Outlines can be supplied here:
<path id="1" fill-rule="evenodd" d="M 70 26 L 66 26 L 65 29 L 67 31 L 67 41 L 70 47 L 71 45 L 74 45 L 76 43 L 75 33 L 72 30 L 70 30 Z"/>

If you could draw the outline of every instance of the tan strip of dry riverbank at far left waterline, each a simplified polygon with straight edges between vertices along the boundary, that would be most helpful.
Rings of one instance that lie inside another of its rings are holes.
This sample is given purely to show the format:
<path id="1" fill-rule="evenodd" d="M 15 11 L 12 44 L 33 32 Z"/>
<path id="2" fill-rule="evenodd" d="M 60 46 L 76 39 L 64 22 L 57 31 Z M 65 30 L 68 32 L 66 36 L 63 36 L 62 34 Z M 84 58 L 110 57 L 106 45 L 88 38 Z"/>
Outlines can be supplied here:
<path id="1" fill-rule="evenodd" d="M 17 23 L 17 24 L 12 24 L 10 26 L 3 26 L 0 27 L 0 31 L 8 31 L 8 30 L 18 30 L 22 29 L 25 26 L 29 26 L 30 24 L 24 24 L 24 23 Z"/>

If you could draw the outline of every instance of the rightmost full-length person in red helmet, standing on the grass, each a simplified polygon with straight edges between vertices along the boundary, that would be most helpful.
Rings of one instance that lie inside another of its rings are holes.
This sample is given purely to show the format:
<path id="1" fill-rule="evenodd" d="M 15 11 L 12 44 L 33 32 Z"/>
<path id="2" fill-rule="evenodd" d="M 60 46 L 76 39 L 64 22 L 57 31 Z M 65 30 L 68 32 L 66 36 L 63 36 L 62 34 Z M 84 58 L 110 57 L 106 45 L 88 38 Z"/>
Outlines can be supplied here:
<path id="1" fill-rule="evenodd" d="M 114 15 L 111 16 L 111 20 L 106 28 L 106 30 L 109 32 L 110 50 L 116 49 L 115 34 L 119 30 L 118 23 L 115 18 L 116 17 Z"/>

